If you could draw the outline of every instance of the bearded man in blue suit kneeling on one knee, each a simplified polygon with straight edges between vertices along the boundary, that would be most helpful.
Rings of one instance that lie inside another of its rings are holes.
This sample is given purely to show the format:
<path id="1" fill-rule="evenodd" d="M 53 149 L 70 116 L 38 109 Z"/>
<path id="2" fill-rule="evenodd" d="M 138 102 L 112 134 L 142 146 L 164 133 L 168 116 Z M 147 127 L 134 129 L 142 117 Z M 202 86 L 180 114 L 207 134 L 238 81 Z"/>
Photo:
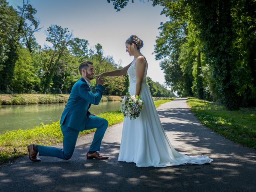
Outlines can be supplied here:
<path id="1" fill-rule="evenodd" d="M 32 161 L 40 161 L 40 156 L 58 157 L 64 160 L 71 158 L 78 134 L 83 130 L 97 128 L 92 144 L 86 154 L 87 159 L 108 159 L 106 156 L 100 155 L 100 144 L 105 131 L 108 127 L 108 121 L 104 118 L 96 117 L 91 114 L 88 109 L 91 104 L 98 105 L 102 92 L 104 90 L 104 82 L 96 79 L 96 93 L 90 90 L 90 80 L 94 78 L 94 68 L 92 62 L 86 61 L 80 64 L 79 71 L 82 76 L 72 87 L 68 102 L 60 119 L 60 128 L 63 134 L 63 149 L 55 147 L 47 147 L 42 145 L 28 145 L 29 158 Z"/>

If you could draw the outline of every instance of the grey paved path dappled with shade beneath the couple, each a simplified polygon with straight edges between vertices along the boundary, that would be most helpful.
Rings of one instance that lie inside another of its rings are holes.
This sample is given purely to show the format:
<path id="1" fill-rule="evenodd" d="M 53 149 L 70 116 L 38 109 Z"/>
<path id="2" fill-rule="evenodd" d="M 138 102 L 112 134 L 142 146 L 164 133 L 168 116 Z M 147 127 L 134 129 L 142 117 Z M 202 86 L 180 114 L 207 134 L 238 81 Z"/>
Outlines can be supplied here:
<path id="1" fill-rule="evenodd" d="M 211 164 L 166 168 L 138 168 L 118 162 L 122 123 L 110 126 L 102 142 L 109 160 L 86 160 L 93 134 L 80 137 L 70 160 L 28 156 L 0 167 L 0 192 L 16 191 L 256 191 L 256 150 L 236 144 L 202 126 L 186 105 L 176 99 L 158 108 L 162 124 L 178 151 L 208 155 Z M 56 145 L 61 147 L 62 144 Z"/>

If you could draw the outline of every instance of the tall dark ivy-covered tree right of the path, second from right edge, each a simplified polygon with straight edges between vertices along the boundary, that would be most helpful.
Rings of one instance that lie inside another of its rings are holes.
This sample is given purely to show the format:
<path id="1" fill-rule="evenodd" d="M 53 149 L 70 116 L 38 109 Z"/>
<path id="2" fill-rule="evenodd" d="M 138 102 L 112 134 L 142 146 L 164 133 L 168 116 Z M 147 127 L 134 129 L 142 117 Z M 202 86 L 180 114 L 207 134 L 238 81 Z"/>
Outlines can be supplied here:
<path id="1" fill-rule="evenodd" d="M 205 2 L 190 1 L 193 22 L 204 42 L 207 62 L 212 66 L 212 76 L 216 80 L 216 90 L 228 110 L 239 108 L 236 94 L 236 80 L 232 72 L 236 70 L 232 31 L 231 0 Z"/>

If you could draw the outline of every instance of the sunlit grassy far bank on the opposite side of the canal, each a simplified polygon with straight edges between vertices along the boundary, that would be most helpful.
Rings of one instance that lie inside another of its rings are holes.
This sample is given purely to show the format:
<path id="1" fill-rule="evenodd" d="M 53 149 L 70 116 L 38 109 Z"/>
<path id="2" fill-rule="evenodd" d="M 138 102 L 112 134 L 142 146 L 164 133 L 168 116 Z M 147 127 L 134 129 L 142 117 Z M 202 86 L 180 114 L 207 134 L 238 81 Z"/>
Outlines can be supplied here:
<path id="1" fill-rule="evenodd" d="M 0 105 L 66 103 L 69 94 L 0 94 Z M 166 99 L 153 97 L 154 100 Z M 121 96 L 102 96 L 101 101 L 121 101 Z"/>

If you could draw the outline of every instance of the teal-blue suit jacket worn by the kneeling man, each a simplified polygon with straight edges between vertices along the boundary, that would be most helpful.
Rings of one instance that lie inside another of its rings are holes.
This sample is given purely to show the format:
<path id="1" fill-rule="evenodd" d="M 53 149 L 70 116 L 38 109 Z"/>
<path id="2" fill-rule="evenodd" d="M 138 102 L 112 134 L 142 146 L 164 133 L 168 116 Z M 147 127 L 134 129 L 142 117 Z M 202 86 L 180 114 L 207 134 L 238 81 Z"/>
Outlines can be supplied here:
<path id="1" fill-rule="evenodd" d="M 88 109 L 91 104 L 98 105 L 100 103 L 104 89 L 104 86 L 97 85 L 94 94 L 84 78 L 80 78 L 72 87 L 68 102 L 60 118 L 60 124 L 83 131 L 90 116 Z"/>

